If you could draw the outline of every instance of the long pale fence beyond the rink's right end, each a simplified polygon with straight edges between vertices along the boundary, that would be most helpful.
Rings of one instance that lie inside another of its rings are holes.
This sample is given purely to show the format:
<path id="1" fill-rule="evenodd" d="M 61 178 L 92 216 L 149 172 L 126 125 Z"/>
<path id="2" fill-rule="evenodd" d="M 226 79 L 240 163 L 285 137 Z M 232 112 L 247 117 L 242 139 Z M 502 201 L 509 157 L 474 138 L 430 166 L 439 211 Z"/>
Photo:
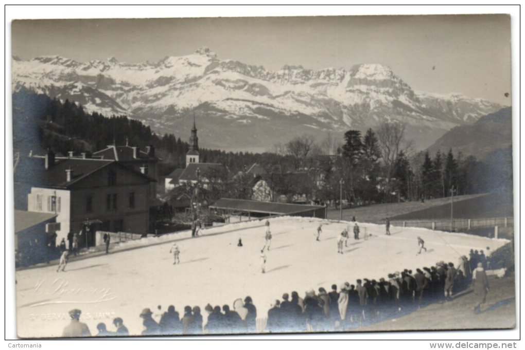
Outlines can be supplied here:
<path id="1" fill-rule="evenodd" d="M 492 218 L 476 218 L 476 219 L 455 219 L 453 221 L 440 220 L 406 220 L 406 221 L 392 221 L 393 226 L 402 227 L 422 227 L 429 229 L 437 229 L 440 231 L 454 231 L 457 229 L 474 229 L 487 227 L 512 227 L 514 225 L 513 217 L 492 217 Z"/>

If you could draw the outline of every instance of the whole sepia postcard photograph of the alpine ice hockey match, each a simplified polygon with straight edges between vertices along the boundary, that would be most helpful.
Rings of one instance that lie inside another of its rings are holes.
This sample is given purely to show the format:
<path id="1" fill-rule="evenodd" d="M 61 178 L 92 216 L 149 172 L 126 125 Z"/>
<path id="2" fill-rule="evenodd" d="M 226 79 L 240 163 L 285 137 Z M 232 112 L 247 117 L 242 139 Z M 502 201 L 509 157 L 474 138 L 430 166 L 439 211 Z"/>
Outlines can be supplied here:
<path id="1" fill-rule="evenodd" d="M 512 20 L 14 18 L 16 336 L 515 330 Z"/>

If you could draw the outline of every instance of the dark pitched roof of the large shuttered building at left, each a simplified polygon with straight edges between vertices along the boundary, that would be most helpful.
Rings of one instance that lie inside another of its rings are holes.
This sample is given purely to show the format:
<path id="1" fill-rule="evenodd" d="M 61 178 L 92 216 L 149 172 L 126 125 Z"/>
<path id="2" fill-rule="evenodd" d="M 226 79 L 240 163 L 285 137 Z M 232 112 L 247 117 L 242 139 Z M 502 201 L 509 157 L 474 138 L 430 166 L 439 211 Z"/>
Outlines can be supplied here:
<path id="1" fill-rule="evenodd" d="M 24 182 L 41 187 L 68 188 L 90 174 L 111 165 L 133 172 L 148 181 L 155 181 L 140 171 L 125 167 L 116 161 L 78 158 L 58 159 L 47 170 L 44 167 L 44 162 L 44 158 L 24 157 L 16 169 L 15 182 Z M 71 181 L 66 179 L 67 169 L 72 170 Z"/>

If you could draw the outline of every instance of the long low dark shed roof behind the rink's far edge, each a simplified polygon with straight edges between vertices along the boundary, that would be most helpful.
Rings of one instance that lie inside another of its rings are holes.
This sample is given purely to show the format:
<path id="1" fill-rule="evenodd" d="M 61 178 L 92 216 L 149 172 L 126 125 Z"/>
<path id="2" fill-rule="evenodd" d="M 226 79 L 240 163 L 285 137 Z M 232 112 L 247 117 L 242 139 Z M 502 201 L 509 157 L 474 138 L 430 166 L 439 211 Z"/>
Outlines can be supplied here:
<path id="1" fill-rule="evenodd" d="M 320 205 L 303 205 L 275 202 L 248 201 L 241 199 L 221 198 L 213 205 L 213 209 L 226 209 L 241 212 L 267 213 L 267 214 L 296 214 L 314 209 L 322 209 Z"/>

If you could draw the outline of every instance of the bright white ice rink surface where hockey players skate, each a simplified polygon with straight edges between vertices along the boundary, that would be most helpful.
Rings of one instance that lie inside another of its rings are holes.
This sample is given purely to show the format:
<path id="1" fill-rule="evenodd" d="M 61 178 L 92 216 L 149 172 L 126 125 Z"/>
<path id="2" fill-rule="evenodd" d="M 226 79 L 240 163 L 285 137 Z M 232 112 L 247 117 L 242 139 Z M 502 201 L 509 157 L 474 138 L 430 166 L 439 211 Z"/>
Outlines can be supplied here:
<path id="1" fill-rule="evenodd" d="M 320 222 L 324 225 L 317 242 Z M 457 264 L 471 248 L 487 253 L 489 247 L 490 254 L 507 242 L 408 227 L 391 227 L 392 235 L 386 236 L 384 226 L 365 223 L 359 224 L 361 233 L 366 227 L 370 237 L 354 240 L 353 223 L 299 217 L 273 218 L 270 223 L 273 238 L 266 251 L 266 274 L 261 274 L 259 261 L 263 221 L 209 228 L 198 238 L 186 232 L 128 242 L 113 254 L 70 261 L 66 272 L 57 273 L 57 266 L 17 271 L 17 333 L 60 336 L 69 323 L 68 311 L 78 308 L 92 335 L 99 322 L 114 331 L 112 320 L 117 316 L 131 334 L 140 335 L 139 314 L 144 308 L 160 314 L 174 305 L 182 317 L 185 305 L 198 305 L 206 322 L 207 303 L 233 307 L 235 299 L 246 296 L 254 300 L 258 317 L 265 317 L 270 303 L 285 292 L 303 296 L 310 288 L 317 292 L 319 287 L 329 290 L 333 283 L 354 284 L 358 278 L 379 280 L 397 270 L 429 267 L 440 260 Z M 350 228 L 350 239 L 341 255 L 336 238 L 343 227 Z M 428 249 L 421 255 L 417 255 L 417 236 Z M 237 246 L 239 238 L 243 247 Z M 173 265 L 169 253 L 174 239 L 181 249 L 180 265 Z M 152 243 L 156 244 L 148 245 Z"/>

